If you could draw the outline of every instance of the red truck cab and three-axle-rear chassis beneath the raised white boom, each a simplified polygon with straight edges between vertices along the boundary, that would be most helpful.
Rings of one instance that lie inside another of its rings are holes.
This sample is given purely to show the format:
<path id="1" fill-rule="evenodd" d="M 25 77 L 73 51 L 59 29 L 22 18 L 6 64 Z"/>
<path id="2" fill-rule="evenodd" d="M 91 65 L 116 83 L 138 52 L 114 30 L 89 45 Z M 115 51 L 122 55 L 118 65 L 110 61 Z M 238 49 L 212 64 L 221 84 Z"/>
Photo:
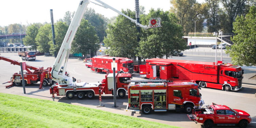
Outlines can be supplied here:
<path id="1" fill-rule="evenodd" d="M 131 74 L 129 73 L 118 73 L 116 75 L 116 89 L 117 94 L 120 98 L 125 97 L 127 92 L 128 83 L 127 80 L 131 79 Z M 101 94 L 112 94 L 113 95 L 113 74 L 110 73 L 105 76 L 105 79 L 97 83 L 87 83 L 80 82 L 71 84 L 69 86 L 55 85 L 54 94 L 57 96 L 66 96 L 69 99 L 74 98 L 76 95 L 78 99 L 83 99 L 85 95 L 87 98 L 92 99 L 94 95 L 99 95 L 99 88 L 101 89 Z M 50 88 L 50 93 L 52 90 Z"/>

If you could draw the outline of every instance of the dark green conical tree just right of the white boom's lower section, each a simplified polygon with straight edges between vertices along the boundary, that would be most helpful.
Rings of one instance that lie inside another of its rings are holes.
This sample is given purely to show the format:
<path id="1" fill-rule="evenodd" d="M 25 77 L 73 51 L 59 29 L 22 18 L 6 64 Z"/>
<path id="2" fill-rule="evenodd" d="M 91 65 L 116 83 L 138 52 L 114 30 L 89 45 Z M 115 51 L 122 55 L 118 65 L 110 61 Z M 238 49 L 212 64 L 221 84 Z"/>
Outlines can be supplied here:
<path id="1" fill-rule="evenodd" d="M 82 19 L 79 28 L 75 34 L 72 43 L 72 53 L 82 53 L 83 55 L 97 51 L 100 47 L 99 38 L 94 26 L 91 26 L 87 20 Z"/>

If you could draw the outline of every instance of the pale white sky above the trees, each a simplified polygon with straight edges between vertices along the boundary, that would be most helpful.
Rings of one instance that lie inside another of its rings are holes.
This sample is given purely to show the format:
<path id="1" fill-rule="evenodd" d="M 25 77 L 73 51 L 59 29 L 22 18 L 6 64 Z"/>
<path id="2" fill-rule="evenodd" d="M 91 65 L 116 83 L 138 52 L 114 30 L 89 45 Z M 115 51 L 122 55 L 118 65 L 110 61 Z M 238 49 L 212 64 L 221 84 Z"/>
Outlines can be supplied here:
<path id="1" fill-rule="evenodd" d="M 94 0 L 91 0 L 94 2 Z M 101 0 L 113 8 L 121 11 L 122 9 L 134 10 L 135 0 Z M 199 0 L 203 1 L 203 0 Z M 0 26 L 10 24 L 28 23 L 50 23 L 50 9 L 53 9 L 54 22 L 63 18 L 65 12 L 76 11 L 80 0 L 0 0 Z M 145 7 L 146 13 L 151 8 L 170 10 L 170 0 L 139 0 L 139 4 Z M 89 3 L 88 8 L 93 8 L 96 13 L 105 17 L 113 17 L 118 14 L 110 9 L 104 9 L 101 6 Z"/>

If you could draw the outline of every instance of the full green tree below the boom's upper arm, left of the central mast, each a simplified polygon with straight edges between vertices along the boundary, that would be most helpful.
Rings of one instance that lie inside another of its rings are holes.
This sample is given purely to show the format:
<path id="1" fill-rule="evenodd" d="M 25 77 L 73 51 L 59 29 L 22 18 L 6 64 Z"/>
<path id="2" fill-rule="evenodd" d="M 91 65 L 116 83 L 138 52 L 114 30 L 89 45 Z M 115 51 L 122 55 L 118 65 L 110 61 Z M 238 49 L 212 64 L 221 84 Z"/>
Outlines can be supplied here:
<path id="1" fill-rule="evenodd" d="M 127 9 L 122 12 L 129 17 L 135 19 L 135 11 Z M 106 50 L 106 54 L 116 57 L 135 57 L 137 54 L 138 32 L 136 25 L 122 15 L 118 15 L 114 25 L 109 24 L 107 37 L 104 39 L 106 46 L 110 49 Z"/>

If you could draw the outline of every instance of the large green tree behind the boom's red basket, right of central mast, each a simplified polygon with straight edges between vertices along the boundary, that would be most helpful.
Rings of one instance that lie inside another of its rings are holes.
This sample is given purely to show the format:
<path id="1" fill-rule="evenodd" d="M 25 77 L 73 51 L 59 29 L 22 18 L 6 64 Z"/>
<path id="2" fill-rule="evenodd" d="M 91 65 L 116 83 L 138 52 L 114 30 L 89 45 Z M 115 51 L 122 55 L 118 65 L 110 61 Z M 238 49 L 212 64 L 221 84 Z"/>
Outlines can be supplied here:
<path id="1" fill-rule="evenodd" d="M 169 57 L 175 51 L 183 51 L 186 42 L 182 39 L 182 27 L 177 24 L 177 18 L 169 11 L 151 9 L 150 13 L 141 17 L 142 24 L 147 24 L 151 17 L 160 17 L 162 27 L 142 30 L 143 38 L 138 48 L 142 58 Z"/>

